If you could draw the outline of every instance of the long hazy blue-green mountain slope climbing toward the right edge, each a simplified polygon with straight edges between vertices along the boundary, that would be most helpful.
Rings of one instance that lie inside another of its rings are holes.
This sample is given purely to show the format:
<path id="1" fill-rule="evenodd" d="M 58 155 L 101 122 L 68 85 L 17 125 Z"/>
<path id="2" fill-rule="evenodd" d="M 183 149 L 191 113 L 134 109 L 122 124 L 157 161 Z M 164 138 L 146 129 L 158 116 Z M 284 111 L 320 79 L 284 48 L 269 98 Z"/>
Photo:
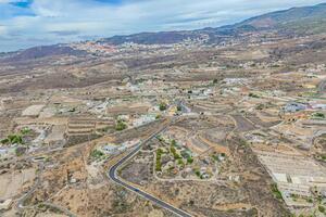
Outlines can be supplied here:
<path id="1" fill-rule="evenodd" d="M 251 17 L 241 23 L 217 28 L 204 28 L 188 31 L 142 33 L 130 36 L 114 36 L 105 42 L 121 44 L 135 42 L 141 44 L 176 43 L 185 39 L 210 37 L 210 42 L 220 42 L 224 37 L 236 37 L 242 33 L 277 30 L 287 35 L 326 33 L 326 3 L 292 8 Z"/>

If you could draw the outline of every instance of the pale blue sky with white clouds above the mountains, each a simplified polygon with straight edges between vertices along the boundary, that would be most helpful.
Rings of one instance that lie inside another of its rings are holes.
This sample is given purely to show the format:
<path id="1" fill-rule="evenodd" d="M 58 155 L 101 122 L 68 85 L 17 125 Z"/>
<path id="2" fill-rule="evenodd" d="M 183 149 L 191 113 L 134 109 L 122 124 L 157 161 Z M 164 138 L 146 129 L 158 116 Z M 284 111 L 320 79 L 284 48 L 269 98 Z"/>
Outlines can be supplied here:
<path id="1" fill-rule="evenodd" d="M 34 46 L 218 27 L 318 0 L 0 0 L 0 52 Z"/>

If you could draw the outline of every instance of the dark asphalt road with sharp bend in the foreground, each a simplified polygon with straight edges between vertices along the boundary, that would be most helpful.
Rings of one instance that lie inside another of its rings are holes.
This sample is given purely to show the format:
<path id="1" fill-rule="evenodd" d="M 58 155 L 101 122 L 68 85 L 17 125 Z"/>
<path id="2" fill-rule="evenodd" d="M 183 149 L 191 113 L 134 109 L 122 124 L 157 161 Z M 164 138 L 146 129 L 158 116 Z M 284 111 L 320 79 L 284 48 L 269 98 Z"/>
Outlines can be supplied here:
<path id="1" fill-rule="evenodd" d="M 190 214 L 177 208 L 177 207 L 174 207 L 167 203 L 165 203 L 164 201 L 149 194 L 149 193 L 146 193 L 145 191 L 140 190 L 140 189 L 137 189 L 126 182 L 124 182 L 122 179 L 120 179 L 116 175 L 116 170 L 118 169 L 120 166 L 122 166 L 126 161 L 130 159 L 135 154 L 137 154 L 137 152 L 141 149 L 141 145 L 147 143 L 148 141 L 152 140 L 156 135 L 159 135 L 161 131 L 163 131 L 166 127 L 164 127 L 163 129 L 161 129 L 159 132 L 155 132 L 154 135 L 152 135 L 150 138 L 148 138 L 146 141 L 139 143 L 128 155 L 126 155 L 125 157 L 123 157 L 122 159 L 120 159 L 115 165 L 113 165 L 110 169 L 109 169 L 109 173 L 108 173 L 108 176 L 117 184 L 137 193 L 138 195 L 155 203 L 156 205 L 176 214 L 177 216 L 183 216 L 183 217 L 191 217 Z"/>

